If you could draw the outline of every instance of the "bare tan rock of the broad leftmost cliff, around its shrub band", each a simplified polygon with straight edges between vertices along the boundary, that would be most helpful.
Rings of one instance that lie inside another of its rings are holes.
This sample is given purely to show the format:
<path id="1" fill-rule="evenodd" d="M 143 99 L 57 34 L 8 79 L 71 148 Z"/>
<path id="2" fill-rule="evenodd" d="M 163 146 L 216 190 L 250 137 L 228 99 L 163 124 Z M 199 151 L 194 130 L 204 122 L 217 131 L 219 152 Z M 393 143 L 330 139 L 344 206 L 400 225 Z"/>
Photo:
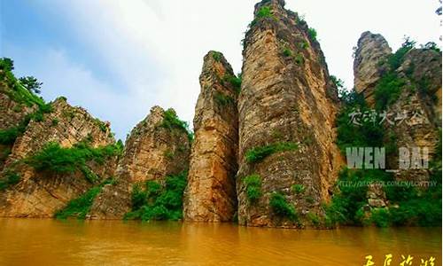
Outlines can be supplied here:
<path id="1" fill-rule="evenodd" d="M 2 192 L 0 216 L 51 217 L 69 200 L 94 185 L 80 171 L 60 175 L 49 170 L 37 171 L 25 163 L 27 158 L 50 142 L 65 148 L 86 139 L 92 147 L 114 143 L 108 124 L 91 117 L 80 107 L 69 106 L 66 99 L 58 98 L 51 104 L 51 109 L 42 118 L 34 117 L 29 121 L 23 136 L 18 137 L 13 145 L 2 178 L 13 173 L 19 176 L 20 181 Z M 103 163 L 89 162 L 88 168 L 99 182 L 113 176 L 115 163 L 116 158 L 113 157 Z"/>

